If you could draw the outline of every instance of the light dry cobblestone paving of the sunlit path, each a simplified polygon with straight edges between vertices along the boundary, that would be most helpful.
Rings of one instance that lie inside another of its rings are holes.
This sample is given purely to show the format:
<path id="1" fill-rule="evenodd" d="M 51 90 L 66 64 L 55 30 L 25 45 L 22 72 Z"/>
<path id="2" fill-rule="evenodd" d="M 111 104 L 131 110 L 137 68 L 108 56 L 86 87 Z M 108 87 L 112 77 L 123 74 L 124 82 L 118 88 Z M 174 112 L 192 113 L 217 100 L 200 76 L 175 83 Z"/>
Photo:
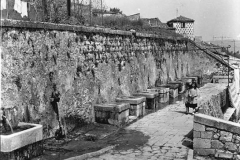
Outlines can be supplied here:
<path id="1" fill-rule="evenodd" d="M 144 146 L 129 150 L 111 150 L 91 160 L 187 159 L 189 148 L 182 144 L 182 140 L 192 128 L 193 115 L 185 114 L 182 102 L 168 105 L 126 128 L 148 135 L 150 139 Z"/>

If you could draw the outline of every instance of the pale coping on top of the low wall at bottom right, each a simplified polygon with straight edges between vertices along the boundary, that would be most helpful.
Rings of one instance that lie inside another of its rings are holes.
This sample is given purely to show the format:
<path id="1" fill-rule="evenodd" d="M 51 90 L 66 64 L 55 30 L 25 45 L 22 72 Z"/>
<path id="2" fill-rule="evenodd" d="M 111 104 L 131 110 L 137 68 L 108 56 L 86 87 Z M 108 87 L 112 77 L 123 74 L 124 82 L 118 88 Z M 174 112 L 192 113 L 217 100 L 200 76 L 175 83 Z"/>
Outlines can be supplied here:
<path id="1" fill-rule="evenodd" d="M 220 118 L 215 118 L 212 116 L 208 116 L 205 114 L 195 114 L 194 115 L 194 122 L 200 123 L 202 125 L 214 127 L 217 129 L 225 130 L 231 133 L 239 134 L 240 133 L 240 124 L 226 121 Z"/>

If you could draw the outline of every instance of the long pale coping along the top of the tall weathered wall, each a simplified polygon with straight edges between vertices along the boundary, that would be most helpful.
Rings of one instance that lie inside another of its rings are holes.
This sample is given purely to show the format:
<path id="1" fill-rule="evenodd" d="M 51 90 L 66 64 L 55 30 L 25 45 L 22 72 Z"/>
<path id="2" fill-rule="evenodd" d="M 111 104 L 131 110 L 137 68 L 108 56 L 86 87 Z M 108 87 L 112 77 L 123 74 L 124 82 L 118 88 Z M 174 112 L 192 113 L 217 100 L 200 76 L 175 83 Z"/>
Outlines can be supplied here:
<path id="1" fill-rule="evenodd" d="M 13 20 L 13 19 L 1 19 L 1 27 L 48 29 L 48 30 L 87 32 L 87 33 L 105 33 L 105 34 L 115 34 L 115 35 L 123 35 L 123 36 L 133 36 L 135 34 L 137 37 L 142 37 L 142 38 L 174 40 L 174 37 L 171 37 L 171 36 L 164 37 L 157 34 L 113 30 L 111 28 L 90 27 L 90 26 L 83 26 L 83 25 L 55 24 L 55 23 L 49 23 L 49 22 L 37 22 L 37 21 L 33 22 L 33 21 Z M 175 39 L 187 41 L 187 39 L 184 37 L 183 38 L 176 37 Z"/>

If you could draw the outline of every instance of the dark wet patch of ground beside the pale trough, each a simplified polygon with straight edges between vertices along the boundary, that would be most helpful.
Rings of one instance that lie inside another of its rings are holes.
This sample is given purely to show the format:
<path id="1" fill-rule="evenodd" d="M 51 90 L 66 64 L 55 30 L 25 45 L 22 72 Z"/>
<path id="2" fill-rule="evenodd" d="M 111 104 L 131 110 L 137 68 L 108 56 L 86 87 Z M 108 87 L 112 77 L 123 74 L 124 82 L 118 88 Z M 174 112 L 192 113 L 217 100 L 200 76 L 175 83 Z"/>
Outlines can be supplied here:
<path id="1" fill-rule="evenodd" d="M 117 145 L 116 150 L 127 150 L 145 144 L 148 138 L 139 131 L 129 131 L 108 124 L 90 124 L 76 129 L 64 140 L 45 140 L 44 154 L 34 160 L 61 160 L 111 145 Z"/>

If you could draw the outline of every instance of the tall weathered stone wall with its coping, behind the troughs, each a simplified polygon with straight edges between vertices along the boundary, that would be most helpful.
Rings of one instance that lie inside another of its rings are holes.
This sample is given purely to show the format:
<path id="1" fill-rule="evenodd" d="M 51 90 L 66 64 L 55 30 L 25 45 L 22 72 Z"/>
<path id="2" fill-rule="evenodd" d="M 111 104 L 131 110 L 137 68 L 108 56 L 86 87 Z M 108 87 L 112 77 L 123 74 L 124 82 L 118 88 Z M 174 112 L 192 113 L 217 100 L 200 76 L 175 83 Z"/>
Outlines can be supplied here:
<path id="1" fill-rule="evenodd" d="M 84 26 L 2 20 L 1 106 L 21 121 L 41 123 L 44 136 L 58 128 L 50 104 L 53 84 L 60 117 L 94 121 L 93 104 L 114 101 L 156 83 L 210 75 L 217 61 L 188 50 L 186 40 Z"/>

